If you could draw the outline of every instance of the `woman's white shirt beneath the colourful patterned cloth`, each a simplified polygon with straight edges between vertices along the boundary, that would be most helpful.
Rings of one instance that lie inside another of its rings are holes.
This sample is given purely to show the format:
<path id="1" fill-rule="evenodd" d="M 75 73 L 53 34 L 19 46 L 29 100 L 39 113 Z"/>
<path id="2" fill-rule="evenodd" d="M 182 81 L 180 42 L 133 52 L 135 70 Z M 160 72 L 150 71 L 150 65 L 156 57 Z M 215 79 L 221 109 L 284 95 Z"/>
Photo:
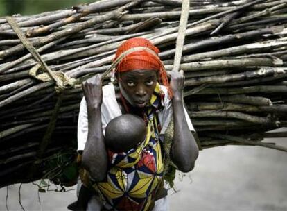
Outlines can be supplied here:
<path id="1" fill-rule="evenodd" d="M 171 117 L 173 116 L 173 107 L 172 101 L 168 97 L 168 90 L 165 86 L 161 85 L 161 90 L 164 92 L 164 109 L 158 113 L 159 124 L 162 126 L 161 134 L 166 132 Z M 105 127 L 107 124 L 114 119 L 122 115 L 119 104 L 116 101 L 116 92 L 114 91 L 114 85 L 112 83 L 103 86 L 103 101 L 101 105 L 101 121 L 103 126 L 103 133 L 105 133 Z M 184 115 L 186 117 L 186 122 L 189 126 L 189 130 L 194 131 L 191 119 L 189 118 L 186 109 L 184 108 Z M 87 142 L 87 133 L 88 133 L 88 119 L 87 119 L 87 103 L 85 97 L 82 98 L 80 102 L 80 112 L 78 118 L 78 151 L 83 151 L 85 144 Z M 94 205 L 95 208 L 98 207 L 98 210 L 101 210 L 103 206 L 101 200 L 97 196 L 93 196 L 88 203 L 87 210 L 91 209 L 91 205 Z M 155 207 L 153 211 L 166 211 L 168 210 L 168 200 L 167 197 L 155 201 Z M 94 210 L 97 211 L 97 210 Z"/>

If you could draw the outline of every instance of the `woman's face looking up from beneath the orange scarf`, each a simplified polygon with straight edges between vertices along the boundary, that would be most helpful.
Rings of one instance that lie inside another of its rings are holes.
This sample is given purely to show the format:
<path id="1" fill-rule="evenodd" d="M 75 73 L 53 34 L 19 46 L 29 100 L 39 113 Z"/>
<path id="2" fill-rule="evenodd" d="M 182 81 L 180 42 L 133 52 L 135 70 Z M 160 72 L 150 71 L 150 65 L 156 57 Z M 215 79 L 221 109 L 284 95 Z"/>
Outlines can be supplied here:
<path id="1" fill-rule="evenodd" d="M 157 84 L 157 72 L 155 70 L 135 69 L 119 73 L 121 94 L 130 105 L 143 108 L 148 104 Z"/>

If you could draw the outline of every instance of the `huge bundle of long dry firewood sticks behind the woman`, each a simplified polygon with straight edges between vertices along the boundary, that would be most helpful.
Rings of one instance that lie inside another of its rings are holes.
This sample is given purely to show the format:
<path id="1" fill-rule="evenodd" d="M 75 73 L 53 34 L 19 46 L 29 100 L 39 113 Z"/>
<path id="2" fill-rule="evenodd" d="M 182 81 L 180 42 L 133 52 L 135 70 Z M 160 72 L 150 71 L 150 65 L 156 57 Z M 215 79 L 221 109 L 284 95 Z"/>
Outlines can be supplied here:
<path id="1" fill-rule="evenodd" d="M 287 124 L 287 0 L 190 1 L 184 101 L 200 149 L 260 145 Z M 76 154 L 80 83 L 146 37 L 173 69 L 180 0 L 103 0 L 0 18 L 0 187 L 56 178 Z M 106 82 L 109 81 L 107 77 Z"/>

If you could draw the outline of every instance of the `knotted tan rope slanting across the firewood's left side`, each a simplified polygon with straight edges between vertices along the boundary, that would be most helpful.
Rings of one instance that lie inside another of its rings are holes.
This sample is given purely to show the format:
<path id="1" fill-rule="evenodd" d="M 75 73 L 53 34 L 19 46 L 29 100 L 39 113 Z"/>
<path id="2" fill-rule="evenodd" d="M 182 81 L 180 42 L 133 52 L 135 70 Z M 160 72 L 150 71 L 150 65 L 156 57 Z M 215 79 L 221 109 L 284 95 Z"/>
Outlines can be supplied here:
<path id="1" fill-rule="evenodd" d="M 19 26 L 17 25 L 17 22 L 15 21 L 15 19 L 13 17 L 6 17 L 6 21 L 8 22 L 8 24 L 11 26 L 11 28 L 13 29 L 13 31 L 15 31 L 15 33 L 17 34 L 17 36 L 19 37 L 19 40 L 21 41 L 21 43 L 24 45 L 24 47 L 26 47 L 26 49 L 31 53 L 31 55 L 35 58 L 35 60 L 37 60 L 37 62 L 39 62 L 38 65 L 35 65 L 35 67 L 33 67 L 31 69 L 31 71 L 29 71 L 29 74 L 41 81 L 48 81 L 47 76 L 49 76 L 49 81 L 51 81 L 51 78 L 55 81 L 56 85 L 58 86 L 56 90 L 61 91 L 64 89 L 67 89 L 67 85 L 75 85 L 76 84 L 76 79 L 75 78 L 69 78 L 69 76 L 67 76 L 66 74 L 64 74 L 61 71 L 52 71 L 48 65 L 46 65 L 46 62 L 44 62 L 44 60 L 42 60 L 40 54 L 37 52 L 37 50 L 35 49 L 35 47 L 33 47 L 33 44 L 31 44 L 31 42 L 26 38 L 26 36 L 24 35 L 24 33 L 21 31 L 21 29 L 19 28 Z M 45 74 L 46 76 L 37 76 L 37 70 L 42 67 L 42 69 L 44 69 L 48 74 Z M 42 79 L 44 78 L 44 79 Z"/>

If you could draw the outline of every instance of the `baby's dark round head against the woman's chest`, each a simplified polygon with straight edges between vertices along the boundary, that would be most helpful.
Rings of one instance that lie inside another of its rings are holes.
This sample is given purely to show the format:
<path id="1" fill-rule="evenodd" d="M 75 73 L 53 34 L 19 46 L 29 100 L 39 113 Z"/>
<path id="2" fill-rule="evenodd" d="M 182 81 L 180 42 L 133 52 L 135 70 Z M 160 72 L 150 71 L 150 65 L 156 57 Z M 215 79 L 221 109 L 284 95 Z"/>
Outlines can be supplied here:
<path id="1" fill-rule="evenodd" d="M 105 128 L 105 144 L 115 153 L 126 152 L 146 138 L 146 122 L 136 115 L 121 115 Z"/>

